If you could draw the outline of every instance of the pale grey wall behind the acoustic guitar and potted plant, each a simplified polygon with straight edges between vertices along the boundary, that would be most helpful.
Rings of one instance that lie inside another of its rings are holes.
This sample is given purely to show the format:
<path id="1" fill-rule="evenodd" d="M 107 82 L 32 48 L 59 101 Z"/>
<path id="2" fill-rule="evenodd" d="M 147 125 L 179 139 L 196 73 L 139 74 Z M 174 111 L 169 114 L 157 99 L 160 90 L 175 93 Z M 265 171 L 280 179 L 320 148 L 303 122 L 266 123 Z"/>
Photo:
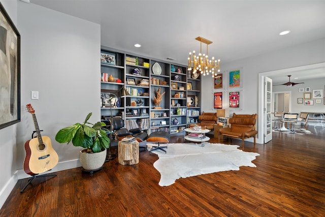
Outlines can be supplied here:
<path id="1" fill-rule="evenodd" d="M 35 109 L 42 136 L 51 138 L 58 153 L 59 164 L 51 172 L 80 166 L 80 148 L 57 143 L 57 131 L 82 122 L 89 112 L 91 122 L 100 120 L 100 25 L 18 1 L 16 26 L 21 35 L 21 122 L 17 141 L 14 127 L 0 131 L 1 146 L 9 150 L 0 152 L 1 165 L 7 165 L 0 167 L 0 206 L 8 197 L 5 189 L 10 193 L 17 179 L 28 177 L 22 170 L 24 143 L 35 127 L 26 104 Z M 31 100 L 31 90 L 39 91 L 39 100 Z"/>

